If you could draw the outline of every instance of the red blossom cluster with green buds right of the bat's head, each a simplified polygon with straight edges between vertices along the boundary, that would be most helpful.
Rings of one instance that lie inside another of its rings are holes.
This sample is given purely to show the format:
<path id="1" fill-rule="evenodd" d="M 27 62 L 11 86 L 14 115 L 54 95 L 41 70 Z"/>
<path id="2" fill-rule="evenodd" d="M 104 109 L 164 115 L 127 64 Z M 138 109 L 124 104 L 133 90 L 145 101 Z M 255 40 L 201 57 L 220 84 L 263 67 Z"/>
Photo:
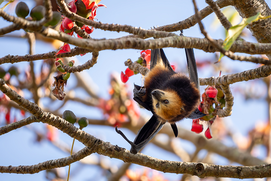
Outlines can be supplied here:
<path id="1" fill-rule="evenodd" d="M 201 95 L 202 101 L 201 104 L 198 106 L 199 111 L 207 114 L 199 119 L 193 119 L 192 129 L 196 133 L 201 133 L 203 131 L 203 125 L 200 124 L 201 121 L 208 121 L 208 128 L 205 131 L 205 137 L 210 139 L 211 130 L 210 127 L 214 123 L 215 119 L 217 118 L 217 114 L 214 113 L 215 109 L 225 107 L 225 98 L 224 93 L 219 86 L 208 86 L 205 89 L 205 92 Z"/>

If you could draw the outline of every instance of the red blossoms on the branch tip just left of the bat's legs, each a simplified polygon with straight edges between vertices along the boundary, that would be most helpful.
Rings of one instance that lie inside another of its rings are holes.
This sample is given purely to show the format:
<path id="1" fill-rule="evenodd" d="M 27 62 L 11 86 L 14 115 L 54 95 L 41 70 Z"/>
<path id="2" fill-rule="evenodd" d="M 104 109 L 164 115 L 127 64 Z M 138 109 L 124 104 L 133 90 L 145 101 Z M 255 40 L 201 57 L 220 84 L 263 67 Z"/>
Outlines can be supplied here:
<path id="1" fill-rule="evenodd" d="M 144 67 L 147 67 L 150 69 L 150 61 L 151 61 L 151 50 L 142 50 L 140 52 L 140 57 L 136 61 L 136 63 L 139 63 L 140 65 L 143 65 Z M 172 69 L 175 71 L 176 67 L 175 65 L 171 65 Z M 121 72 L 120 78 L 123 83 L 126 83 L 132 75 L 136 75 L 138 72 L 132 71 L 129 68 L 125 70 L 125 73 Z"/>

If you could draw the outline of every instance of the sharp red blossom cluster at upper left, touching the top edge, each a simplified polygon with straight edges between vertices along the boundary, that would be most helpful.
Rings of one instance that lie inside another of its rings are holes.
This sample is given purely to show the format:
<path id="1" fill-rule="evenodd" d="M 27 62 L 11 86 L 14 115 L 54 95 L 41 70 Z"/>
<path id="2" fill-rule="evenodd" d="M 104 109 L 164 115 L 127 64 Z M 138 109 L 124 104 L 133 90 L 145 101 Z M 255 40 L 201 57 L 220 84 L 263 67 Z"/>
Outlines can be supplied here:
<path id="1" fill-rule="evenodd" d="M 86 19 L 93 20 L 96 17 L 96 11 L 98 7 L 106 5 L 98 4 L 101 0 L 73 0 L 68 3 L 69 10 L 73 13 L 76 13 L 79 16 L 82 16 Z M 60 25 L 59 30 L 68 34 L 73 35 L 73 31 L 71 30 L 74 27 L 74 24 L 76 24 L 81 29 L 84 29 L 86 33 L 90 34 L 94 31 L 93 27 L 88 27 L 82 23 L 74 22 L 71 19 L 68 19 L 67 17 L 62 16 L 62 22 Z M 82 38 L 79 35 L 77 35 L 78 38 Z M 59 51 L 56 53 L 56 55 L 60 53 L 68 53 L 70 52 L 70 45 L 68 43 L 64 43 L 62 47 L 60 47 Z M 83 56 L 81 54 L 81 56 Z"/>

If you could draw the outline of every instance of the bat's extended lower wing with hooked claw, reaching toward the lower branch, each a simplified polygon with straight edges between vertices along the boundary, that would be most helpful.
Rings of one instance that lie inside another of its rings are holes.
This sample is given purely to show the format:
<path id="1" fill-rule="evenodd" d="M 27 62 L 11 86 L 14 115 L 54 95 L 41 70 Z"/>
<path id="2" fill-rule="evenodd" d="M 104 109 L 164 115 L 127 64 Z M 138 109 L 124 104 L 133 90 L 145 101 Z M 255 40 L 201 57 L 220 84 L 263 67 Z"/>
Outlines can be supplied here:
<path id="1" fill-rule="evenodd" d="M 131 142 L 126 136 L 117 129 L 116 132 L 120 134 L 129 144 L 131 144 L 130 152 L 137 154 L 163 127 L 160 121 L 157 120 L 156 116 L 153 115 L 142 128 L 137 132 L 134 142 Z"/>

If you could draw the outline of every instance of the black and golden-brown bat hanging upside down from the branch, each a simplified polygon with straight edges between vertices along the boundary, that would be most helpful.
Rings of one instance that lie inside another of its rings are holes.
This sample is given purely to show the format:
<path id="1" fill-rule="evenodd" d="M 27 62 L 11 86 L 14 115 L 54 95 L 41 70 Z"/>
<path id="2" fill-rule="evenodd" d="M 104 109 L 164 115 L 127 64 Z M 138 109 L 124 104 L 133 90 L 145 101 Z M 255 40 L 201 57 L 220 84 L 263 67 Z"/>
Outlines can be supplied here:
<path id="1" fill-rule="evenodd" d="M 189 77 L 173 71 L 163 49 L 151 50 L 150 71 L 144 86 L 134 85 L 134 100 L 152 112 L 153 116 L 138 131 L 134 142 L 117 129 L 129 144 L 130 152 L 137 154 L 163 127 L 171 124 L 175 137 L 176 122 L 183 118 L 197 119 L 205 116 L 197 106 L 200 103 L 199 79 L 193 49 L 185 49 Z"/>

